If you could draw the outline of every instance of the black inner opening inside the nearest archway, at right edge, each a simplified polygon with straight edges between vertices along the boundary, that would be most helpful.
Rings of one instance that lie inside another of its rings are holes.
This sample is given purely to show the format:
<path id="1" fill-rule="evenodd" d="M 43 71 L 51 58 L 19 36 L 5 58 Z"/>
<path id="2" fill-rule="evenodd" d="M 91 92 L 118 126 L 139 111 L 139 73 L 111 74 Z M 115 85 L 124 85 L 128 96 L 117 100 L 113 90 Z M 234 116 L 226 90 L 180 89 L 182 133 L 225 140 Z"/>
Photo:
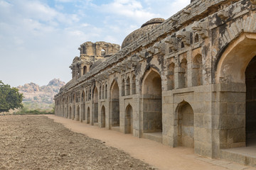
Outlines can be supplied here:
<path id="1" fill-rule="evenodd" d="M 245 71 L 246 84 L 246 145 L 256 146 L 256 56 L 252 58 Z"/>

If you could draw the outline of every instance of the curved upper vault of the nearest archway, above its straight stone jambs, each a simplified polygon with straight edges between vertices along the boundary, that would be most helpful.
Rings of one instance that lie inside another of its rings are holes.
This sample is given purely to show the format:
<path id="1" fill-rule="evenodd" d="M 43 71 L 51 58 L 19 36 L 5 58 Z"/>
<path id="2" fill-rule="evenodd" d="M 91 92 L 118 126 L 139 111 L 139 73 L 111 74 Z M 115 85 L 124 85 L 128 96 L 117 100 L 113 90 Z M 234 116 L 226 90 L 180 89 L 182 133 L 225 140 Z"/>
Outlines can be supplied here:
<path id="1" fill-rule="evenodd" d="M 215 72 L 216 83 L 245 84 L 245 69 L 256 55 L 255 45 L 256 33 L 242 33 L 230 43 L 218 61 Z"/>

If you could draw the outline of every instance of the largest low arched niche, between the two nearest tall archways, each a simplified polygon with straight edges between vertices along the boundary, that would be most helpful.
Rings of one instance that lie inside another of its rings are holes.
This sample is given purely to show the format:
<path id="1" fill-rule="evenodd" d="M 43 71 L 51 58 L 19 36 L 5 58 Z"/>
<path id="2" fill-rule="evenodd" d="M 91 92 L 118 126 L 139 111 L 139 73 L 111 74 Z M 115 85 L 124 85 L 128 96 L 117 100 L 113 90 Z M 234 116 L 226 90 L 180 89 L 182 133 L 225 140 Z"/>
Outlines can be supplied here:
<path id="1" fill-rule="evenodd" d="M 178 146 L 194 147 L 194 114 L 186 101 L 178 104 Z"/>

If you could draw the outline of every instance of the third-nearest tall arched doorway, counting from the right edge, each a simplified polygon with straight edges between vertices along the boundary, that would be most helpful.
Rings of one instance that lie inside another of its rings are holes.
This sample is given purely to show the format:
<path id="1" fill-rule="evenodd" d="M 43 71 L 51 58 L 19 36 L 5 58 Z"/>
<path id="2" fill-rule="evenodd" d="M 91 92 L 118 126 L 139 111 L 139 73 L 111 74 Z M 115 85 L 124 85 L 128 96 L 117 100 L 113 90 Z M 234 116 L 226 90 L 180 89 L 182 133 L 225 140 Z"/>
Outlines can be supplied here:
<path id="1" fill-rule="evenodd" d="M 114 81 L 111 88 L 111 111 L 112 111 L 112 127 L 119 126 L 119 87 L 117 81 Z"/>

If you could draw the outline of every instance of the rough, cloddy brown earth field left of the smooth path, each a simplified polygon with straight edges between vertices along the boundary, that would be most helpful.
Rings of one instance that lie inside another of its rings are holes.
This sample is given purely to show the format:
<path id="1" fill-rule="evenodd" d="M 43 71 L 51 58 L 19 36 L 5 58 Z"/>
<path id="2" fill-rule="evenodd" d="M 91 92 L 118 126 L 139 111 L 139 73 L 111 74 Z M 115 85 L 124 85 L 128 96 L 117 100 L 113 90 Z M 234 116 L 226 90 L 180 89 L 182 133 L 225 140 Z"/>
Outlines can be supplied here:
<path id="1" fill-rule="evenodd" d="M 46 116 L 0 116 L 0 169 L 154 169 Z"/>

